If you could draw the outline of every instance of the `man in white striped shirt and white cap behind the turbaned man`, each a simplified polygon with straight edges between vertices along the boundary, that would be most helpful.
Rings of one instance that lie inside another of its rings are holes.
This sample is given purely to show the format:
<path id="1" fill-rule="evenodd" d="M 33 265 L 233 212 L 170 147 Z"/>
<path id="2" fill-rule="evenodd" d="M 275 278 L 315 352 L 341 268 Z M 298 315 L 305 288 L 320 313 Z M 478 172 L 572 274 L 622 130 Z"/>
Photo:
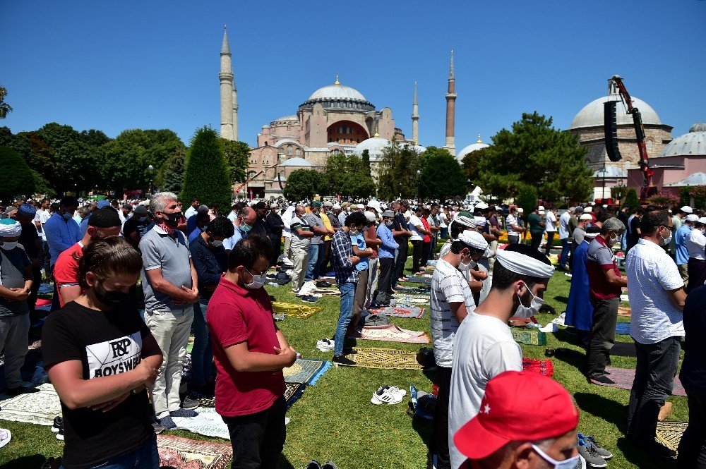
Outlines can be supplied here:
<path id="1" fill-rule="evenodd" d="M 448 252 L 436 263 L 431 276 L 429 317 L 438 367 L 438 396 L 433 420 L 431 453 L 437 455 L 437 469 L 450 468 L 448 456 L 448 397 L 453 361 L 453 338 L 459 324 L 476 305 L 471 289 L 460 269 L 478 262 L 488 243 L 477 231 L 462 231 Z"/>

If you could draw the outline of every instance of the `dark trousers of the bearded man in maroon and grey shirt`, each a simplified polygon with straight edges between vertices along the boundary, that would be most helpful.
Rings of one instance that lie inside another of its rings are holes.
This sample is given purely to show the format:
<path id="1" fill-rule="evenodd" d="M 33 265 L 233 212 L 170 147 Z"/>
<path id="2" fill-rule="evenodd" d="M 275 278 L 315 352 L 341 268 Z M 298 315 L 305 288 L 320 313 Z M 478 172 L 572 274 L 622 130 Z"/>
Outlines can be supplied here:
<path id="1" fill-rule="evenodd" d="M 593 325 L 588 336 L 586 351 L 586 376 L 597 378 L 604 374 L 611 348 L 616 342 L 616 322 L 618 322 L 618 305 L 620 298 L 596 300 L 591 298 L 593 305 Z"/>

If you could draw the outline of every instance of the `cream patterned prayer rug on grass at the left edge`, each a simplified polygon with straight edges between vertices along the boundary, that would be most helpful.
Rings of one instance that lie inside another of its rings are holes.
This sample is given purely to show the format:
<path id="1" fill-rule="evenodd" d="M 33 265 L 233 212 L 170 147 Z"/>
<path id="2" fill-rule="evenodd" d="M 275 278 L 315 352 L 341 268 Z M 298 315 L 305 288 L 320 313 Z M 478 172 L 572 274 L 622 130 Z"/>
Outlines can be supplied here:
<path id="1" fill-rule="evenodd" d="M 35 387 L 30 383 L 23 383 L 23 386 Z M 0 419 L 51 427 L 54 417 L 61 415 L 59 395 L 49 383 L 36 387 L 40 391 L 32 394 L 20 394 L 15 397 L 0 395 Z"/>

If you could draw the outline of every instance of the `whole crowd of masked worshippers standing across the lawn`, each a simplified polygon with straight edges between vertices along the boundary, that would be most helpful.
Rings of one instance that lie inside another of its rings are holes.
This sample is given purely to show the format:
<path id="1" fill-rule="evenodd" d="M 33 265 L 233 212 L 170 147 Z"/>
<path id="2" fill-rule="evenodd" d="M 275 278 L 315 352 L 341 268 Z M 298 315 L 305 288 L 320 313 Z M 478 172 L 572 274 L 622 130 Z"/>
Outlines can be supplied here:
<path id="1" fill-rule="evenodd" d="M 195 417 L 198 399 L 214 396 L 233 467 L 277 467 L 286 434 L 282 369 L 297 351 L 263 288 L 271 267 L 303 302 L 316 302 L 316 290 L 335 279 L 333 362 L 344 366 L 354 365 L 347 355 L 361 315 L 393 305 L 409 276 L 429 277 L 438 368 L 429 463 L 573 468 L 585 446 L 578 409 L 561 385 L 522 371 L 508 326 L 542 309 L 555 236 L 557 268 L 571 277 L 564 321 L 586 348 L 592 383 L 613 383 L 606 366 L 628 289 L 638 365 L 627 436 L 655 457 L 671 456 L 654 434 L 686 335 L 690 423 L 679 463 L 706 461 L 706 365 L 700 341 L 690 340 L 706 331 L 706 217 L 692 207 L 670 214 L 588 203 L 560 214 L 537 205 L 525 216 L 485 202 L 256 200 L 222 213 L 198 199 L 184 209 L 163 192 L 145 201 L 25 200 L 1 212 L 6 393 L 36 391 L 20 385 L 20 367 L 37 291 L 50 281 L 42 358 L 61 399 L 66 468 L 157 467 L 155 432 Z M 192 379 L 181 398 L 192 330 Z"/>

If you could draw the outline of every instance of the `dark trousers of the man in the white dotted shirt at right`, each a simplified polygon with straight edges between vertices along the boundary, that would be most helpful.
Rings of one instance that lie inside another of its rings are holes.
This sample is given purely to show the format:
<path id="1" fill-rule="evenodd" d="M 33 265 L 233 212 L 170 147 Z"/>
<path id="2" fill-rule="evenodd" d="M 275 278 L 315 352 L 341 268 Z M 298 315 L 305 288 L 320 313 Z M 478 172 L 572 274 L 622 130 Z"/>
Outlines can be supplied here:
<path id="1" fill-rule="evenodd" d="M 681 352 L 681 337 L 668 337 L 657 343 L 635 341 L 638 366 L 630 391 L 628 438 L 652 446 L 657 432 L 657 415 L 674 387 Z"/>

